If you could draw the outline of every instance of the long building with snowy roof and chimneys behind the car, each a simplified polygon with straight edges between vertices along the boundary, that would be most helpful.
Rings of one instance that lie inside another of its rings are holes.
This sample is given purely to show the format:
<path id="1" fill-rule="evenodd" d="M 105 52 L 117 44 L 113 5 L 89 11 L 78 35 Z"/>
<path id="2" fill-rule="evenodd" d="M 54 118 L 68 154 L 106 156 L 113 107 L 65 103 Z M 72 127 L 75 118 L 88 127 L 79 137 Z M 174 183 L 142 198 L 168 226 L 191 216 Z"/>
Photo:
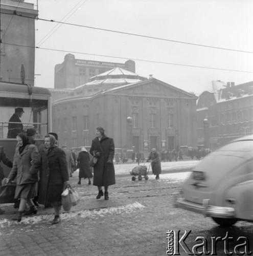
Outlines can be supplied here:
<path id="1" fill-rule="evenodd" d="M 237 86 L 227 82 L 220 88 L 216 82 L 214 90 L 203 92 L 197 102 L 198 145 L 208 133 L 212 149 L 253 132 L 253 81 Z"/>

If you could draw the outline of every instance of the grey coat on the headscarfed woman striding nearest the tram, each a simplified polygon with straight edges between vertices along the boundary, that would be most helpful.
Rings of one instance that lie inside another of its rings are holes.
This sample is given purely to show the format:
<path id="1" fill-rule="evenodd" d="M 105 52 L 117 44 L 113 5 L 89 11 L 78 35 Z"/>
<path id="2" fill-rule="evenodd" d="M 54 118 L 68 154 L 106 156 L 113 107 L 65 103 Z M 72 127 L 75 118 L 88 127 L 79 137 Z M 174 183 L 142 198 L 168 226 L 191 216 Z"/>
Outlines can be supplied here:
<path id="1" fill-rule="evenodd" d="M 39 166 L 39 153 L 35 145 L 26 145 L 21 154 L 19 153 L 19 147 L 16 147 L 13 167 L 8 178 L 14 180 L 17 177 L 17 185 L 36 183 Z"/>

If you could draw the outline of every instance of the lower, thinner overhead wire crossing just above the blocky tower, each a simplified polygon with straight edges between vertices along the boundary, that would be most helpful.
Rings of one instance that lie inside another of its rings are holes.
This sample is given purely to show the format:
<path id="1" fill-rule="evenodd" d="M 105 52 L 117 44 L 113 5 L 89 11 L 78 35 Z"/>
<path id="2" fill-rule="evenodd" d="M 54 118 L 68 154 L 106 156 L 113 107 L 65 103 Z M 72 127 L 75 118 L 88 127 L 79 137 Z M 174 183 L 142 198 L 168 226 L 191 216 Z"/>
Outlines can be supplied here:
<path id="1" fill-rule="evenodd" d="M 77 54 L 92 55 L 92 56 L 99 56 L 99 57 L 110 57 L 110 58 L 117 58 L 117 59 L 132 59 L 132 60 L 136 60 L 136 61 L 145 61 L 145 62 L 160 63 L 160 64 L 167 64 L 167 65 L 192 67 L 192 68 L 213 69 L 213 70 L 233 71 L 233 72 L 242 72 L 242 73 L 253 73 L 253 71 L 245 71 L 245 70 L 222 69 L 222 68 L 214 68 L 214 67 L 187 65 L 187 64 L 165 62 L 165 61 L 156 61 L 156 60 L 147 60 L 147 59 L 138 59 L 138 58 L 128 58 L 128 57 L 118 57 L 118 56 L 111 56 L 111 55 L 102 55 L 102 54 L 76 52 L 76 51 L 66 51 L 66 50 L 43 48 L 43 47 L 16 45 L 16 44 L 10 44 L 10 43 L 5 43 L 5 44 L 12 45 L 12 46 L 19 46 L 19 47 L 35 48 L 35 49 L 39 49 L 39 50 L 48 50 L 48 51 L 56 51 L 56 52 L 67 52 L 67 53 L 77 53 Z"/>

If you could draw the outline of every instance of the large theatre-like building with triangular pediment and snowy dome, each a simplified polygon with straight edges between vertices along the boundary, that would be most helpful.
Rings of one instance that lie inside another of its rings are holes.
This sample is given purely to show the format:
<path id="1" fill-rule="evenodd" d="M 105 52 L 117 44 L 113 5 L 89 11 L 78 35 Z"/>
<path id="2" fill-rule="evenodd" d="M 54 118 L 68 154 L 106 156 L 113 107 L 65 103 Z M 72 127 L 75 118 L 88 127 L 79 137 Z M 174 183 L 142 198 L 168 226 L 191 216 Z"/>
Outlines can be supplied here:
<path id="1" fill-rule="evenodd" d="M 155 78 L 117 68 L 53 103 L 53 131 L 60 144 L 89 146 L 103 126 L 117 148 L 148 152 L 197 145 L 196 100 Z"/>

